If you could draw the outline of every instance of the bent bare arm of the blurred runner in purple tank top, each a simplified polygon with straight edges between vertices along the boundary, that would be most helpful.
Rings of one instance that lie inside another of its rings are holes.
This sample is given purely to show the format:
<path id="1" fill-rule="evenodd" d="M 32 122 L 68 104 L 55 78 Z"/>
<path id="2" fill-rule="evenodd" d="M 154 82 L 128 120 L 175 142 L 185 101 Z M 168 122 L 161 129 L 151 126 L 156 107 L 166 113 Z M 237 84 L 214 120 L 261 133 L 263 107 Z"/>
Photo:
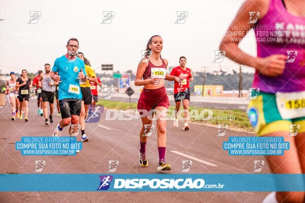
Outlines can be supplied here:
<path id="1" fill-rule="evenodd" d="M 260 71 L 263 75 L 278 76 L 283 73 L 285 69 L 286 57 L 283 54 L 270 55 L 264 58 L 253 57 L 246 54 L 238 48 L 238 44 L 243 37 L 246 36 L 247 32 L 255 24 L 247 24 L 249 21 L 249 12 L 258 11 L 260 15 L 258 20 L 262 19 L 268 11 L 269 1 L 265 0 L 247 0 L 242 4 L 236 17 L 227 30 L 227 35 L 223 38 L 220 44 L 220 50 L 226 51 L 226 56 L 231 60 L 243 64 L 255 67 L 256 70 Z M 229 33 L 235 34 L 234 37 Z"/>

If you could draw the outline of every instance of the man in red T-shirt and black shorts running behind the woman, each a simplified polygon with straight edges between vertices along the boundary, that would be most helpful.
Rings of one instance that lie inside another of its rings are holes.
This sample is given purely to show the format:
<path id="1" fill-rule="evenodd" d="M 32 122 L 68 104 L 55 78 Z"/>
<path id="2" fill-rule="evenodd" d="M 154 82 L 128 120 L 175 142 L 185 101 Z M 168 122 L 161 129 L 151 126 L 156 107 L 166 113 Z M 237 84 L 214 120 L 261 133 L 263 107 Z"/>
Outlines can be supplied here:
<path id="1" fill-rule="evenodd" d="M 175 120 L 174 120 L 174 126 L 178 127 L 178 117 L 177 112 L 180 109 L 180 104 L 182 100 L 183 108 L 184 108 L 184 117 L 185 117 L 185 124 L 184 124 L 184 130 L 189 130 L 190 126 L 188 124 L 189 120 L 189 103 L 190 103 L 190 82 L 194 80 L 191 70 L 186 67 L 187 64 L 187 58 L 184 56 L 181 56 L 179 59 L 180 65 L 177 67 L 174 67 L 172 72 L 170 73 L 171 76 L 176 76 L 180 78 L 184 78 L 182 80 L 182 85 L 179 86 L 178 82 L 174 83 L 174 98 L 176 103 L 176 109 L 175 109 Z"/>

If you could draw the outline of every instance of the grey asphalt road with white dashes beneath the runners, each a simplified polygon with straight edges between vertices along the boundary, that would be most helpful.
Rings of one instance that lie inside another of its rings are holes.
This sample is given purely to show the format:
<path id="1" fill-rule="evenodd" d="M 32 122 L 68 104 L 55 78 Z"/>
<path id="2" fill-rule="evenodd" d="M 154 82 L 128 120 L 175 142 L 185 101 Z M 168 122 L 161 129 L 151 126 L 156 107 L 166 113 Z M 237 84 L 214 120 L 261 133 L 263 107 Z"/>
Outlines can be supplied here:
<path id="1" fill-rule="evenodd" d="M 105 121 L 105 113 L 98 123 L 87 123 L 89 142 L 75 156 L 23 156 L 15 150 L 22 136 L 51 136 L 60 117 L 54 112 L 54 123 L 44 125 L 38 115 L 36 100 L 29 102 L 29 122 L 11 121 L 11 106 L 0 109 L 0 173 L 34 174 L 35 160 L 45 160 L 44 174 L 105 174 L 108 160 L 118 160 L 115 173 L 157 174 L 157 133 L 148 138 L 146 154 L 148 167 L 138 163 L 140 120 Z M 156 124 L 156 121 L 154 121 Z M 253 160 L 263 156 L 230 156 L 222 149 L 229 136 L 246 136 L 249 133 L 227 130 L 224 137 L 216 137 L 216 127 L 190 124 L 183 131 L 183 122 L 175 128 L 167 121 L 166 160 L 172 170 L 180 173 L 182 160 L 192 156 L 190 172 L 195 174 L 253 174 Z M 68 127 L 62 136 L 68 135 Z M 80 135 L 77 138 L 80 141 Z M 175 151 L 175 152 L 173 152 Z M 177 153 L 178 152 L 178 153 Z M 265 160 L 265 163 L 267 161 Z M 267 164 L 260 173 L 270 173 Z M 31 184 L 31 183 L 29 183 Z M 80 183 L 81 184 L 81 183 Z M 98 186 L 97 186 L 98 187 Z M 268 192 L 0 192 L 0 202 L 262 202 Z"/>

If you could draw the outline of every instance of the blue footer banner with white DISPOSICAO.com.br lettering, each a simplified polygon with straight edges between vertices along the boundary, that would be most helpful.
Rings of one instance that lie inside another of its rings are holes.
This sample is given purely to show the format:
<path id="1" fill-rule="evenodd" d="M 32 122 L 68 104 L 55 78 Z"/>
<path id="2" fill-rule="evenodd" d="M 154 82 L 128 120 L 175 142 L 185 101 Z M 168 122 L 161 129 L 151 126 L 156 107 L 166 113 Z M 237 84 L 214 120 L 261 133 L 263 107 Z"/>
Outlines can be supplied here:
<path id="1" fill-rule="evenodd" d="M 304 174 L 1 174 L 0 191 L 305 191 Z"/>

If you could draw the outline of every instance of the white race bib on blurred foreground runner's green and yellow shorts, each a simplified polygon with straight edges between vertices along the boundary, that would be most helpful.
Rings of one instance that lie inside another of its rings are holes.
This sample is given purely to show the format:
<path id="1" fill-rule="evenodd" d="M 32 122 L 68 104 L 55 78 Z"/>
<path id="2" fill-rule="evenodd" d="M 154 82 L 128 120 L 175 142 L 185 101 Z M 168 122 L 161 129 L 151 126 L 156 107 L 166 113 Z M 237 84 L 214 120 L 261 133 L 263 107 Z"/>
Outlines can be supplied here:
<path id="1" fill-rule="evenodd" d="M 278 92 L 277 106 L 283 119 L 292 119 L 305 116 L 305 91 Z"/>

